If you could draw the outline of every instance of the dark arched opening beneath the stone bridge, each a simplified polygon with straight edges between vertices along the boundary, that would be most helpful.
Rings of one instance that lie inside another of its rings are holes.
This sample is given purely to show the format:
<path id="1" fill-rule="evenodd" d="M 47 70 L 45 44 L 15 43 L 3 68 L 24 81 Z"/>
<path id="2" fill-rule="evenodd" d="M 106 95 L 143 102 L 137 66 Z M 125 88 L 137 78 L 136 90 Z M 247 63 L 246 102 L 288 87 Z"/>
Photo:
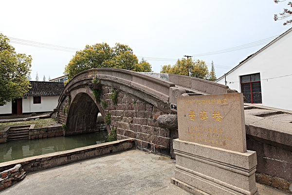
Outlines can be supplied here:
<path id="1" fill-rule="evenodd" d="M 87 93 L 79 93 L 70 104 L 65 136 L 95 132 L 100 113 L 97 105 Z"/>

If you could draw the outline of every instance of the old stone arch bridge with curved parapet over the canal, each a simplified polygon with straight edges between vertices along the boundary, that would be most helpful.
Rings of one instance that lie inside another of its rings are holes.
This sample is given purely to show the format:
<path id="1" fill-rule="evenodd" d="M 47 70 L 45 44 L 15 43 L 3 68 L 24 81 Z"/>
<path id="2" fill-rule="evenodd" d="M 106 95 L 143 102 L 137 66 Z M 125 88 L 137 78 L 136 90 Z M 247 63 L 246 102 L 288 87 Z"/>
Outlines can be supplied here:
<path id="1" fill-rule="evenodd" d="M 93 78 L 98 83 L 92 83 Z M 159 127 L 157 118 L 176 114 L 179 96 L 223 94 L 227 89 L 225 85 L 199 78 L 96 68 L 78 73 L 67 83 L 54 117 L 66 124 L 64 135 L 69 136 L 94 132 L 100 113 L 108 132 L 111 127 L 117 128 L 118 139 L 130 137 L 138 149 L 169 156 L 171 140 L 178 133 Z M 100 98 L 96 100 L 92 91 Z"/>

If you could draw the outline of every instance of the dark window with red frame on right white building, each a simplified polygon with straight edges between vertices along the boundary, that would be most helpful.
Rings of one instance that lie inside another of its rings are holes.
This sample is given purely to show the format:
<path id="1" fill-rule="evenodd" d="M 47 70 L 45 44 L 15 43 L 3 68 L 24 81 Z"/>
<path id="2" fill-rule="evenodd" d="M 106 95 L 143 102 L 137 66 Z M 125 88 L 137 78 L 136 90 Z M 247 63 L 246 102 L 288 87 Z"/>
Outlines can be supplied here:
<path id="1" fill-rule="evenodd" d="M 240 85 L 247 103 L 262 103 L 259 73 L 240 76 Z"/>

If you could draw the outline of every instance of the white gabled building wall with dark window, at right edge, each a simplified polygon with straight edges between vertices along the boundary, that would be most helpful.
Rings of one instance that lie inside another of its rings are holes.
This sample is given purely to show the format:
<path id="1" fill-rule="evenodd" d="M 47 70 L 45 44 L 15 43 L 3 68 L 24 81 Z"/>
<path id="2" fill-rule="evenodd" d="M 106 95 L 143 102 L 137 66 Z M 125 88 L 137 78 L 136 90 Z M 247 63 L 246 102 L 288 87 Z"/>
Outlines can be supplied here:
<path id="1" fill-rule="evenodd" d="M 226 78 L 225 78 L 226 77 Z M 216 80 L 248 103 L 292 110 L 292 28 Z"/>

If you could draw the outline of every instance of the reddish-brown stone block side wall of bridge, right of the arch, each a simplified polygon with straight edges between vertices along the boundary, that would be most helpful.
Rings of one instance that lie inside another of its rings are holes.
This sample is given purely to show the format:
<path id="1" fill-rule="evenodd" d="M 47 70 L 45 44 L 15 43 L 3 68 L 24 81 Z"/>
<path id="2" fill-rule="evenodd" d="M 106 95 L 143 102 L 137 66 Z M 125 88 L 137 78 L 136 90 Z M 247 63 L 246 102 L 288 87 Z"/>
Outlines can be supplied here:
<path id="1" fill-rule="evenodd" d="M 146 152 L 170 155 L 171 131 L 158 126 L 157 118 L 165 114 L 144 100 L 119 91 L 117 105 L 110 98 L 111 87 L 103 86 L 102 100 L 108 106 L 110 126 L 117 128 L 117 138 L 133 138 L 136 148 Z"/>

